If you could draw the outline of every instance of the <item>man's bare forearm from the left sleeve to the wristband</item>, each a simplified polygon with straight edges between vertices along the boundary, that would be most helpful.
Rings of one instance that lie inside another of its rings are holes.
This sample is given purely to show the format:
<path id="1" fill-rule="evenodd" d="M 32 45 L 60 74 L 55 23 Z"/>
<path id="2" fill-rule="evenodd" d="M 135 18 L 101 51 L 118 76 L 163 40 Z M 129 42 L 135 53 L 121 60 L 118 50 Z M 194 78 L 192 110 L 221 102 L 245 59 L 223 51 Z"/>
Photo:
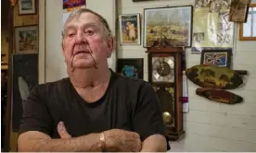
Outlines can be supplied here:
<path id="1" fill-rule="evenodd" d="M 20 140 L 21 141 L 21 140 Z M 70 139 L 24 139 L 19 144 L 19 151 L 22 152 L 100 152 L 102 143 L 99 134 L 83 135 Z"/>

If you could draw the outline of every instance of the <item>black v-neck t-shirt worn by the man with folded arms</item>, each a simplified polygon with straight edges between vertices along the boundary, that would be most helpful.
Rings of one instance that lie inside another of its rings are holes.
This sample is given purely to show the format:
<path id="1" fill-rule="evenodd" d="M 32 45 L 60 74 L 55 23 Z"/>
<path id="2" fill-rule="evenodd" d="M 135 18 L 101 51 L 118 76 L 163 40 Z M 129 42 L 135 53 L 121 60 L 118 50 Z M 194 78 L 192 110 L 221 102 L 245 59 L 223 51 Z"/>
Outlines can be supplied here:
<path id="1" fill-rule="evenodd" d="M 94 103 L 80 97 L 69 77 L 37 85 L 26 102 L 19 133 L 40 131 L 59 138 L 57 126 L 62 121 L 74 137 L 113 128 L 134 131 L 142 141 L 149 135 L 165 135 L 160 103 L 151 85 L 113 71 L 105 95 Z"/>

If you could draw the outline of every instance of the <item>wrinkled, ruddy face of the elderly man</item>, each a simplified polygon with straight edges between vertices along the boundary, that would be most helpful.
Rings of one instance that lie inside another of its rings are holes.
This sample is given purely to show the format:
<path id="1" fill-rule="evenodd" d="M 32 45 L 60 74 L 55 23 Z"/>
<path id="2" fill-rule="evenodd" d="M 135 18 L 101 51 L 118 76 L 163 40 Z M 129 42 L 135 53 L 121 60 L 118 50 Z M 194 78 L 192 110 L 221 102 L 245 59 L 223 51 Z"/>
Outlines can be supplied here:
<path id="1" fill-rule="evenodd" d="M 113 50 L 113 39 L 106 35 L 102 22 L 92 13 L 71 19 L 64 31 L 62 53 L 68 68 L 100 65 Z"/>

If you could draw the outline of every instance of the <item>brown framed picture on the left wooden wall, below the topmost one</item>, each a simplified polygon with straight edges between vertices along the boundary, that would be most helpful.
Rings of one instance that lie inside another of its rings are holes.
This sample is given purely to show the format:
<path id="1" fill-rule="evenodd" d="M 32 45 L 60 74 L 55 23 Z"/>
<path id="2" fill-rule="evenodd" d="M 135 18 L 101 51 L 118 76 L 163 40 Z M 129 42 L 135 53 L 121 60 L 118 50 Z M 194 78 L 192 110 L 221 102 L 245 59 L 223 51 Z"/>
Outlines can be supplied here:
<path id="1" fill-rule="evenodd" d="M 15 27 L 15 53 L 38 53 L 38 26 Z"/>

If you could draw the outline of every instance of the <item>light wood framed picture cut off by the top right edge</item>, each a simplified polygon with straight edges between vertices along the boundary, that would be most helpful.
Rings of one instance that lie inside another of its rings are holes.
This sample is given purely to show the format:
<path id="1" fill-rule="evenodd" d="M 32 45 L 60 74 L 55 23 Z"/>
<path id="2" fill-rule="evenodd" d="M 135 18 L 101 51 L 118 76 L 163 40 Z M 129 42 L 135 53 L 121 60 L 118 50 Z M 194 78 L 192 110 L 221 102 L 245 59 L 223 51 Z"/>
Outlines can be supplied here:
<path id="1" fill-rule="evenodd" d="M 239 41 L 256 41 L 256 4 L 251 4 L 246 23 L 239 23 Z"/>

